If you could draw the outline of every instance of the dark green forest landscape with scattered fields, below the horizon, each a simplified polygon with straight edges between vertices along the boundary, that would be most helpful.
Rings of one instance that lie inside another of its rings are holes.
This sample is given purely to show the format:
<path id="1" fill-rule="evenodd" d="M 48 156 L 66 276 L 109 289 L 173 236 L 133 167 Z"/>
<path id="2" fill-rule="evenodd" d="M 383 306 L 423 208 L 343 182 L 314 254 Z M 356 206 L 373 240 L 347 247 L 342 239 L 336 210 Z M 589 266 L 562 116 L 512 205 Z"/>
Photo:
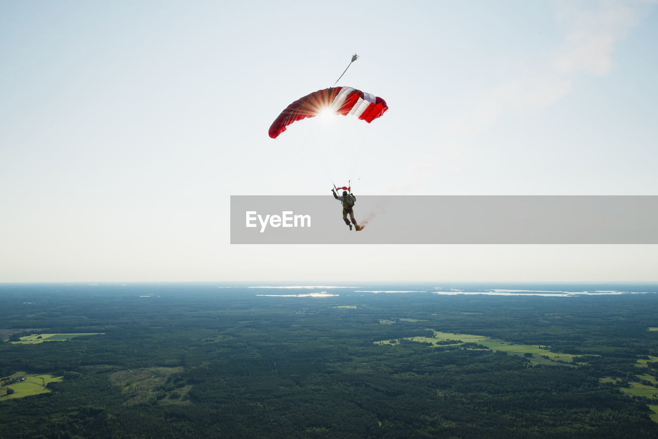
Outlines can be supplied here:
<path id="1" fill-rule="evenodd" d="M 0 284 L 0 439 L 658 437 L 656 285 L 248 287 Z"/>

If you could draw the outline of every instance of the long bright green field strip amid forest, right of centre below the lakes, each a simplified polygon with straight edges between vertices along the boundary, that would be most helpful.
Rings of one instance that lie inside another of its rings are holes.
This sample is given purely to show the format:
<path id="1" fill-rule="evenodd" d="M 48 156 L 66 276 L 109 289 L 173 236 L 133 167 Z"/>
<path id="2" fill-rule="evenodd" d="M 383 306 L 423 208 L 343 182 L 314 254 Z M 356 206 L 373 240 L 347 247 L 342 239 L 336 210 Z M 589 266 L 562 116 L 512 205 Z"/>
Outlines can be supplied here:
<path id="1" fill-rule="evenodd" d="M 380 321 L 380 323 L 383 323 L 383 321 Z M 491 349 L 492 351 L 503 351 L 510 353 L 511 355 L 525 355 L 526 353 L 532 353 L 532 357 L 528 357 L 530 359 L 530 363 L 532 364 L 555 364 L 556 362 L 571 363 L 575 356 L 570 355 L 569 353 L 551 352 L 548 349 L 540 348 L 540 346 L 532 346 L 529 344 L 514 344 L 510 342 L 503 342 L 502 340 L 493 340 L 492 338 L 486 336 L 460 334 L 458 332 L 453 333 L 434 331 L 434 337 L 408 337 L 405 338 L 405 340 L 411 340 L 412 342 L 419 343 L 430 343 L 434 346 L 459 346 L 464 343 L 476 343 L 482 346 L 486 346 L 486 348 Z M 446 341 L 454 341 L 455 343 L 440 343 Z M 382 340 L 375 343 L 392 344 L 391 340 Z M 397 343 L 399 343 L 399 341 L 397 341 Z"/>

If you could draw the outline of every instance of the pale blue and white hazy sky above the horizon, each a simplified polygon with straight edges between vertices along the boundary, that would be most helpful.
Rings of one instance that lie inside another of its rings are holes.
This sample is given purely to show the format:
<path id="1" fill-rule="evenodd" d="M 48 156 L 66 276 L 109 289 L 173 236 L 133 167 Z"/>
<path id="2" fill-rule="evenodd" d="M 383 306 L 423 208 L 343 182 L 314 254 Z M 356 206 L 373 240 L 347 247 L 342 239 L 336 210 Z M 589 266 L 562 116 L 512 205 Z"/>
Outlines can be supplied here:
<path id="1" fill-rule="evenodd" d="M 658 280 L 657 245 L 231 245 L 229 222 L 230 195 L 348 179 L 658 195 L 657 47 L 646 0 L 0 0 L 0 282 Z M 270 139 L 353 53 L 337 85 L 386 114 Z"/>

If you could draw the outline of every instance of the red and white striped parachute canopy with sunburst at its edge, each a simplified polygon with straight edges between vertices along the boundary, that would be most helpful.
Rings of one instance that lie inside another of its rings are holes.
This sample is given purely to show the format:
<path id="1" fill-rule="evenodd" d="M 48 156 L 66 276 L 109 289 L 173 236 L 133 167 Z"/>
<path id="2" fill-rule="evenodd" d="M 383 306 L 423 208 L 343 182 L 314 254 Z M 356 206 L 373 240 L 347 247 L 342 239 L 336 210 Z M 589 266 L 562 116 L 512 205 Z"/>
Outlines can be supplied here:
<path id="1" fill-rule="evenodd" d="M 270 137 L 276 139 L 292 122 L 315 117 L 327 110 L 334 115 L 355 116 L 370 123 L 388 110 L 381 97 L 351 87 L 332 87 L 314 91 L 294 101 L 270 126 Z"/>

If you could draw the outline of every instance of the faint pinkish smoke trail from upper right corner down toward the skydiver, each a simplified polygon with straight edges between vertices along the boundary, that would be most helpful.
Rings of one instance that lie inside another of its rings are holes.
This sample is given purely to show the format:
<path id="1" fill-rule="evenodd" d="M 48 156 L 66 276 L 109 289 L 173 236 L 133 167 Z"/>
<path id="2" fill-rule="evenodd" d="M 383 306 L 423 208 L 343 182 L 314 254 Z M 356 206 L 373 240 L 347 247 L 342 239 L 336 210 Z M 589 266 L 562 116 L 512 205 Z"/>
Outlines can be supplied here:
<path id="1" fill-rule="evenodd" d="M 436 181 L 437 175 L 461 174 L 472 151 L 463 146 L 497 120 L 553 105 L 567 97 L 583 76 L 611 72 L 618 43 L 656 3 L 658 0 L 556 2 L 555 20 L 562 30 L 559 42 L 547 48 L 534 68 L 481 93 L 467 110 L 446 120 L 437 133 L 442 147 L 405 166 L 403 180 L 409 186 L 403 189 L 415 192 Z"/>

